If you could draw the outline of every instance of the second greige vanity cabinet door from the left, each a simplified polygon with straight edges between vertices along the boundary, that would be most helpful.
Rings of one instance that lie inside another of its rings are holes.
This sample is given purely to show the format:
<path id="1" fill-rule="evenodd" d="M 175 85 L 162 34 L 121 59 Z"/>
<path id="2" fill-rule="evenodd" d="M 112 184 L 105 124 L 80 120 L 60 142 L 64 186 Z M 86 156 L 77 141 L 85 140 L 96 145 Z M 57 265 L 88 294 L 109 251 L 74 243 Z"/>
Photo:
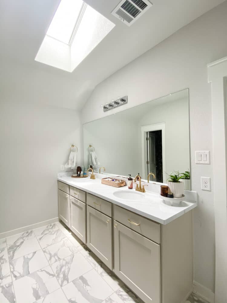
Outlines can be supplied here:
<path id="1" fill-rule="evenodd" d="M 86 204 L 70 197 L 70 229 L 86 244 Z"/>

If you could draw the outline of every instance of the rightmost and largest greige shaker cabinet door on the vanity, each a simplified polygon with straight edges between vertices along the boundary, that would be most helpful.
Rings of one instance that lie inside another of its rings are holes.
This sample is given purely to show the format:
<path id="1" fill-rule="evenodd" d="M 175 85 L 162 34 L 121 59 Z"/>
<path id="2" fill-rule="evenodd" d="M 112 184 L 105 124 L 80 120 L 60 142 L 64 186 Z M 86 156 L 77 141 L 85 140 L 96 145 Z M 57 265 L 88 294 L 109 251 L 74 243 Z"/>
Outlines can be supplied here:
<path id="1" fill-rule="evenodd" d="M 145 303 L 160 303 L 160 245 L 117 221 L 114 272 Z"/>

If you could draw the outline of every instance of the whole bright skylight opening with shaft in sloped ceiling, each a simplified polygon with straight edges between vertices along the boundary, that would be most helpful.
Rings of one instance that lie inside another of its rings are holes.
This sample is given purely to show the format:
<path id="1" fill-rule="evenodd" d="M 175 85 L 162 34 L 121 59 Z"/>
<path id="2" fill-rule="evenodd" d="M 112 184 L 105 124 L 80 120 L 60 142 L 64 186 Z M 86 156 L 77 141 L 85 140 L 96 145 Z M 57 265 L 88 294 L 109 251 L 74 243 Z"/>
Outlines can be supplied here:
<path id="1" fill-rule="evenodd" d="M 61 0 L 35 60 L 72 72 L 114 26 L 82 0 Z"/>

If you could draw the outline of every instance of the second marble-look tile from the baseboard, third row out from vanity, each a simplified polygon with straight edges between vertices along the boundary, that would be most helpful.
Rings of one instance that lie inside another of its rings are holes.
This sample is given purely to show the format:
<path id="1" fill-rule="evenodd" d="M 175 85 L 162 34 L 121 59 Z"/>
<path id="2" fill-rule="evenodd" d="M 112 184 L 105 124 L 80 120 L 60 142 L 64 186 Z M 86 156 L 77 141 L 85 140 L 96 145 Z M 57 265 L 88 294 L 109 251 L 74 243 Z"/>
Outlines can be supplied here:
<path id="1" fill-rule="evenodd" d="M 10 261 L 12 279 L 15 281 L 48 265 L 48 261 L 41 249 L 31 252 L 28 255 Z"/>

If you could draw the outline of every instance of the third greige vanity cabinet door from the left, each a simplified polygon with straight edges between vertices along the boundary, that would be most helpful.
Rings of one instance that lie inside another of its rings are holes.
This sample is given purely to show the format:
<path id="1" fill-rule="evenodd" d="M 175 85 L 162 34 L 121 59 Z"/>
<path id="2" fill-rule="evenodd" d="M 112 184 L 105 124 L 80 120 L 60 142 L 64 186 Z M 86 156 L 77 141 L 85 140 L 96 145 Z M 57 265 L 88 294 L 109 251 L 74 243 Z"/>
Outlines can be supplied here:
<path id="1" fill-rule="evenodd" d="M 112 219 L 88 205 L 87 246 L 112 269 Z"/>

